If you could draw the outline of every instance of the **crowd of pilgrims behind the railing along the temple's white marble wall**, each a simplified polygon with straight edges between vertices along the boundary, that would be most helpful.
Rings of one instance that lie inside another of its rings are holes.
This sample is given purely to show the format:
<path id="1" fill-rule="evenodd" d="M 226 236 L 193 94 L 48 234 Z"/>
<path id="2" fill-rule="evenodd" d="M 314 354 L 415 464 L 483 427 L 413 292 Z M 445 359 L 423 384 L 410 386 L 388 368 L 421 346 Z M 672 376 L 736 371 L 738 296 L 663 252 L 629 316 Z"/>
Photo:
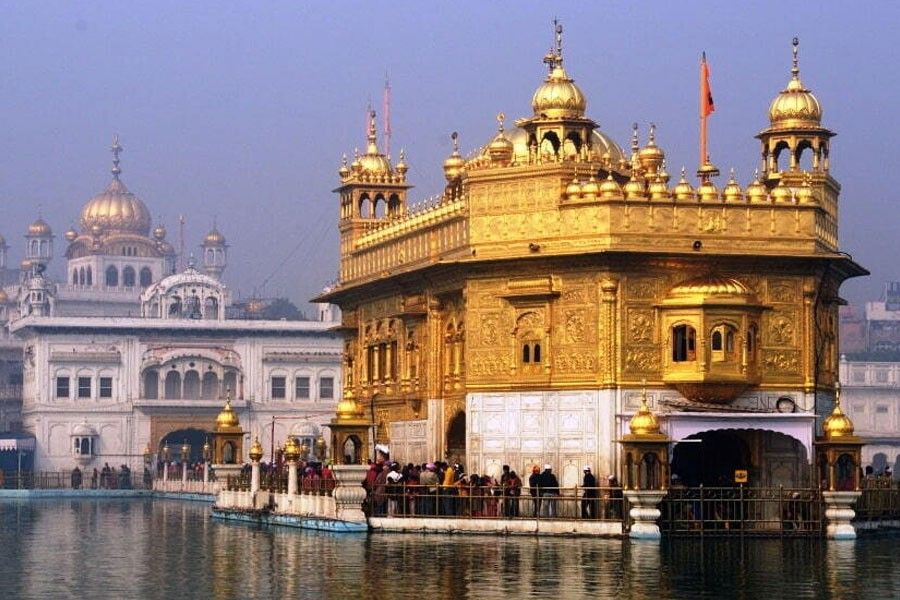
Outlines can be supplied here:
<path id="1" fill-rule="evenodd" d="M 620 519 L 622 489 L 615 476 L 603 488 L 589 465 L 582 486 L 569 500 L 578 502 L 585 519 Z M 561 490 L 551 465 L 532 466 L 527 481 L 504 465 L 499 479 L 467 474 L 462 465 L 429 462 L 406 466 L 390 460 L 369 464 L 363 481 L 370 516 L 458 516 L 516 518 L 559 516 Z M 524 496 L 524 498 L 523 498 Z M 572 515 L 572 516 L 578 516 Z"/>

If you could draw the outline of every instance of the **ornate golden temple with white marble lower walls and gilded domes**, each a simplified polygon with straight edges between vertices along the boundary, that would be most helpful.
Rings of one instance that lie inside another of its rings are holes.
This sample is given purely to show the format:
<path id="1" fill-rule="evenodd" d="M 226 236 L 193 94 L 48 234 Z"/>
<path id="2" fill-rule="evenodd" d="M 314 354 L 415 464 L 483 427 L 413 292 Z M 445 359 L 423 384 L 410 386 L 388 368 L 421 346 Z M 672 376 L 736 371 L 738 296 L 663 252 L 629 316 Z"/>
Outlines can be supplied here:
<path id="1" fill-rule="evenodd" d="M 838 290 L 866 271 L 838 248 L 834 133 L 797 50 L 746 187 L 732 171 L 720 190 L 708 162 L 673 185 L 653 125 L 628 151 L 600 131 L 561 27 L 532 114 L 498 115 L 467 157 L 454 133 L 439 198 L 409 204 L 372 113 L 319 299 L 343 311 L 344 412 L 398 460 L 549 462 L 565 484 L 583 462 L 615 472 L 646 380 L 673 440 L 731 431 L 751 478 L 799 481 L 831 407 Z"/>

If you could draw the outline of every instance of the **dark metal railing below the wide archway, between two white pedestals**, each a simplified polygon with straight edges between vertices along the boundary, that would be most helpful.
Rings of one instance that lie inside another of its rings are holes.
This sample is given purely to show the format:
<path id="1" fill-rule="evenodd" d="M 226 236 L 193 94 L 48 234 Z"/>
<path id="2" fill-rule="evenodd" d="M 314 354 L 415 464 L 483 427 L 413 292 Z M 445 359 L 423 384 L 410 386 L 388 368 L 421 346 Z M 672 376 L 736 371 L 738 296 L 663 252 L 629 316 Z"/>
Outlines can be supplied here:
<path id="1" fill-rule="evenodd" d="M 810 536 L 825 529 L 818 489 L 674 488 L 660 510 L 660 529 L 673 535 Z"/>

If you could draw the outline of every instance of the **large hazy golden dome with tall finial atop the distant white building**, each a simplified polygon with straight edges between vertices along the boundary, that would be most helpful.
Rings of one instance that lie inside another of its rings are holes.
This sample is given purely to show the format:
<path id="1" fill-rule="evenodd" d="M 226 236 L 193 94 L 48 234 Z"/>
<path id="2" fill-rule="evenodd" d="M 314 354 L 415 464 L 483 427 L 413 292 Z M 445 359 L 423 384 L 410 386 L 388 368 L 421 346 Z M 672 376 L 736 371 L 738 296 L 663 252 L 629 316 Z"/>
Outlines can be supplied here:
<path id="1" fill-rule="evenodd" d="M 128 191 L 120 179 L 119 154 L 122 146 L 116 136 L 112 146 L 113 179 L 100 194 L 81 209 L 81 229 L 85 233 L 99 227 L 104 232 L 132 233 L 146 236 L 150 232 L 150 211 L 143 201 Z"/>

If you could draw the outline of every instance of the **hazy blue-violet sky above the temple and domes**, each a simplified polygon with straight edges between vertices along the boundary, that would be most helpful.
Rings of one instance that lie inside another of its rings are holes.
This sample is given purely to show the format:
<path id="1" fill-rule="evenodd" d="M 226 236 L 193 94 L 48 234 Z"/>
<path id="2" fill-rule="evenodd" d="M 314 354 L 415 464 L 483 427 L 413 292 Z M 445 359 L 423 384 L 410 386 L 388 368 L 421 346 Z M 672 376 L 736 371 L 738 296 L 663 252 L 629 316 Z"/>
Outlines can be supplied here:
<path id="1" fill-rule="evenodd" d="M 900 7 L 832 4 L 6 2 L 0 233 L 17 263 L 40 206 L 59 257 L 63 232 L 108 183 L 118 133 L 122 178 L 173 243 L 179 214 L 189 248 L 216 218 L 239 295 L 274 273 L 261 292 L 303 302 L 335 277 L 336 169 L 364 145 L 366 104 L 380 108 L 385 72 L 392 147 L 407 150 L 418 200 L 441 189 L 451 131 L 468 151 L 492 137 L 497 112 L 530 113 L 558 16 L 589 115 L 623 146 L 633 121 L 657 123 L 673 173 L 696 167 L 706 50 L 710 151 L 742 184 L 799 36 L 803 81 L 839 134 L 841 245 L 872 271 L 842 292 L 876 297 L 900 279 Z"/>

